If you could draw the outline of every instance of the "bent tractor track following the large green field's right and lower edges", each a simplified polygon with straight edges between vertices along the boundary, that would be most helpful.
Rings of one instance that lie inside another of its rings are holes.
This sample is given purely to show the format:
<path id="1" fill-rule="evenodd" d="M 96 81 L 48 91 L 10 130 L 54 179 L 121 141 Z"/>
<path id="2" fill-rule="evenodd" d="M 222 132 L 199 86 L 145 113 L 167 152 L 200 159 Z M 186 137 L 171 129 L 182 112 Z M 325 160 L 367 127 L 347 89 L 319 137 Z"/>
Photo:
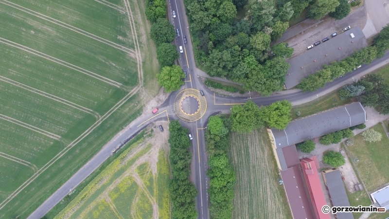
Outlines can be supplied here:
<path id="1" fill-rule="evenodd" d="M 0 0 L 0 3 L 3 3 L 5 0 Z M 76 138 L 74 141 L 72 141 L 68 146 L 66 146 L 64 149 L 62 149 L 57 155 L 55 155 L 47 164 L 42 166 L 38 171 L 35 172 L 33 176 L 31 176 L 26 182 L 24 182 L 22 185 L 20 185 L 14 192 L 12 192 L 4 201 L 0 203 L 0 210 L 4 208 L 4 206 L 13 200 L 24 188 L 26 188 L 30 183 L 32 183 L 40 174 L 42 174 L 46 169 L 48 169 L 51 165 L 53 165 L 58 159 L 60 159 L 62 156 L 64 156 L 73 146 L 78 144 L 80 141 L 82 141 L 85 137 L 88 136 L 90 132 L 92 132 L 95 128 L 97 128 L 103 121 L 105 121 L 113 112 L 115 112 L 117 109 L 119 109 L 128 99 L 130 99 L 133 95 L 135 95 L 138 91 L 143 89 L 143 70 L 142 70 L 142 59 L 140 54 L 140 48 L 138 43 L 138 37 L 136 34 L 136 28 L 134 24 L 134 20 L 131 19 L 132 12 L 130 8 L 130 4 L 128 0 L 124 0 L 128 19 L 130 22 L 131 32 L 132 36 L 134 38 L 135 43 L 135 54 L 137 57 L 137 63 L 138 63 L 138 85 L 135 87 L 132 91 L 130 91 L 127 95 L 125 95 L 120 101 L 118 101 L 110 110 L 108 110 L 99 120 L 97 120 L 91 127 L 89 127 L 86 131 L 84 131 L 78 138 Z M 130 17 L 131 16 L 131 17 Z M 0 42 L 1 42 L 0 38 Z M 6 40 L 6 39 L 4 39 Z M 8 40 L 7 40 L 8 41 Z M 30 51 L 27 51 L 30 52 Z M 37 52 L 37 51 L 36 51 Z M 30 52 L 31 53 L 31 52 Z M 38 52 L 39 53 L 39 52 Z M 70 63 L 69 63 L 70 64 Z M 63 65 L 63 64 L 62 64 Z M 72 65 L 72 64 L 70 64 Z M 67 66 L 68 67 L 68 66 Z M 110 79 L 108 79 L 110 80 Z M 105 81 L 106 82 L 106 81 Z M 106 82 L 108 83 L 108 82 Z M 116 82 L 118 83 L 118 82 Z M 120 84 L 122 85 L 122 84 Z M 139 105 L 141 106 L 141 105 Z M 139 107 L 138 107 L 139 108 Z M 153 207 L 154 211 L 154 207 Z M 157 216 L 158 216 L 158 210 L 157 210 Z M 158 217 L 157 217 L 158 218 Z"/>

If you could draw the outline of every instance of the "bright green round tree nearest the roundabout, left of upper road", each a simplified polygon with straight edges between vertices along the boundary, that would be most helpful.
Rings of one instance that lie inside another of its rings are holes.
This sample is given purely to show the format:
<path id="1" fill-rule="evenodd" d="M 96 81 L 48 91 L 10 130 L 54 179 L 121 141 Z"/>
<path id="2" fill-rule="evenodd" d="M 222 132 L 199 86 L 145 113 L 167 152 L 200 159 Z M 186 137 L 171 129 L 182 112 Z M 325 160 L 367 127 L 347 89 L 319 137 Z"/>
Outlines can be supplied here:
<path id="1" fill-rule="evenodd" d="M 170 92 L 177 91 L 184 84 L 182 78 L 185 78 L 185 74 L 178 65 L 165 66 L 161 73 L 157 74 L 157 78 L 159 85 L 165 88 L 165 92 Z"/>

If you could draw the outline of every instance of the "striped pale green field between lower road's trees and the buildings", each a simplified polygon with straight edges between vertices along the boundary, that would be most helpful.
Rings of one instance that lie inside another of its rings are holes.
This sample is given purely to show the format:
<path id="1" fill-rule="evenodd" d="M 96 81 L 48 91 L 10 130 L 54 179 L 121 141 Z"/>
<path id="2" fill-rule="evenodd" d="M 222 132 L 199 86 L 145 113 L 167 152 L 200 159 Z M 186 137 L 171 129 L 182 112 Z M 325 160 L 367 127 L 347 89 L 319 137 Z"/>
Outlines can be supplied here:
<path id="1" fill-rule="evenodd" d="M 228 156 L 237 181 L 232 218 L 292 218 L 265 128 L 231 133 Z"/>

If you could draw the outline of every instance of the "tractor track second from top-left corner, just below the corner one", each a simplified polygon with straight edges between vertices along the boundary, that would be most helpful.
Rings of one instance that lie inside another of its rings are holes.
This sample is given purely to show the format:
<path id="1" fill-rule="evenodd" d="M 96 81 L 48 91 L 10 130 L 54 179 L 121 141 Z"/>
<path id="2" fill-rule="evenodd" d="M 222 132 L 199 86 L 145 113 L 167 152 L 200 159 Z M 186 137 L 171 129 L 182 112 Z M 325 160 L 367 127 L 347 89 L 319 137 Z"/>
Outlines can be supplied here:
<path id="1" fill-rule="evenodd" d="M 47 54 L 44 54 L 44 53 L 41 53 L 41 52 L 36 51 L 36 50 L 33 50 L 33 49 L 28 48 L 28 47 L 26 47 L 26 46 L 20 45 L 20 44 L 15 43 L 15 42 L 12 42 L 12 41 L 10 41 L 10 40 L 8 40 L 8 39 L 4 39 L 4 38 L 0 37 L 0 43 L 3 43 L 3 44 L 5 44 L 5 45 L 8 45 L 8 46 L 12 46 L 12 47 L 18 48 L 18 49 L 20 49 L 20 50 L 23 50 L 23 51 L 25 51 L 25 52 L 31 53 L 31 54 L 33 54 L 33 55 L 37 55 L 37 56 L 42 57 L 42 58 L 44 58 L 44 59 L 47 59 L 47 60 L 49 60 L 49 61 L 52 61 L 52 62 L 55 62 L 55 63 L 57 63 L 57 64 L 63 65 L 63 66 L 65 66 L 65 67 L 70 68 L 70 69 L 72 69 L 72 70 L 74 70 L 74 71 L 77 71 L 77 72 L 79 72 L 79 73 L 83 73 L 83 74 L 86 74 L 86 75 L 88 75 L 88 76 L 90 76 L 90 77 L 93 77 L 93 78 L 95 78 L 95 79 L 97 79 L 97 80 L 106 82 L 107 84 L 110 84 L 110 85 L 112 85 L 112 86 L 115 86 L 115 87 L 118 87 L 118 88 L 120 88 L 120 86 L 122 86 L 122 84 L 119 83 L 119 82 L 116 82 L 116 81 L 114 81 L 114 80 L 111 80 L 111 79 L 109 79 L 109 78 L 106 78 L 106 77 L 104 77 L 104 76 L 101 76 L 101 75 L 99 75 L 99 74 L 92 73 L 92 72 L 90 72 L 90 71 L 88 71 L 88 70 L 85 70 L 85 69 L 83 69 L 83 68 L 81 68 L 81 67 L 75 66 L 75 65 L 73 65 L 73 64 L 71 64 L 71 63 L 69 63 L 69 62 L 65 62 L 65 61 L 63 61 L 63 60 L 61 60 L 61 59 L 55 58 L 55 57 L 53 57 L 53 56 L 50 56 L 50 55 L 47 55 Z"/>

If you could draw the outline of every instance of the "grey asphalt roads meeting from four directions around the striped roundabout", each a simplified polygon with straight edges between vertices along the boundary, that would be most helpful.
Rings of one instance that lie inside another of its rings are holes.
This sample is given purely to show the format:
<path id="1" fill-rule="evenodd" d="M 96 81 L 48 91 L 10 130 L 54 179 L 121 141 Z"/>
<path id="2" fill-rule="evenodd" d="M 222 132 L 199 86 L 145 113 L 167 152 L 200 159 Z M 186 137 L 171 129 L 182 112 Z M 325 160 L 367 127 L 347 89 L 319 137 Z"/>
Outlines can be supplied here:
<path id="1" fill-rule="evenodd" d="M 199 78 L 195 75 L 195 59 L 193 55 L 193 48 L 189 35 L 189 28 L 187 17 L 185 15 L 184 5 L 181 0 L 169 0 L 168 14 L 171 21 L 174 20 L 174 26 L 177 29 L 180 29 L 180 36 L 176 38 L 176 45 L 183 46 L 185 48 L 184 53 L 180 54 L 179 62 L 180 66 L 188 71 L 188 77 L 186 80 L 191 79 L 190 82 L 186 82 L 182 89 L 193 88 L 196 90 L 203 90 L 207 100 L 207 111 L 204 116 L 199 120 L 188 123 L 180 121 L 182 126 L 189 128 L 190 133 L 193 135 L 192 140 L 192 151 L 193 151 L 193 160 L 192 160 L 192 173 L 191 180 L 195 183 L 195 186 L 198 191 L 198 196 L 196 198 L 196 209 L 199 213 L 200 219 L 209 219 L 209 198 L 207 194 L 207 188 L 209 185 L 209 179 L 206 177 L 206 170 L 208 168 L 208 158 L 205 153 L 205 142 L 204 142 L 204 131 L 207 124 L 209 116 L 217 114 L 218 112 L 228 112 L 230 110 L 231 104 L 244 103 L 248 99 L 246 98 L 234 98 L 234 97 L 223 97 L 215 96 L 214 93 L 208 90 Z M 172 10 L 176 11 L 176 18 L 172 18 Z M 187 37 L 187 44 L 183 43 L 182 36 Z M 178 49 L 177 49 L 178 50 Z M 325 93 L 331 92 L 347 83 L 351 83 L 355 78 L 359 78 L 364 74 L 367 74 L 385 64 L 389 63 L 389 53 L 380 59 L 375 59 L 371 65 L 362 66 L 361 68 L 355 70 L 352 73 L 348 73 L 346 76 L 336 79 L 334 82 L 328 83 L 325 88 L 319 89 L 315 92 L 303 93 L 302 91 L 292 90 L 292 91 L 279 91 L 276 95 L 271 95 L 269 97 L 256 97 L 252 98 L 258 105 L 269 105 L 277 100 L 289 100 L 293 105 L 299 105 L 304 102 L 312 101 L 318 98 Z M 135 120 L 131 123 L 131 127 L 125 128 L 123 131 L 118 133 L 110 142 L 108 142 L 87 164 L 85 164 L 81 169 L 75 173 L 70 180 L 64 183 L 53 195 L 42 203 L 29 217 L 28 219 L 39 219 L 43 217 L 50 209 L 53 208 L 55 204 L 61 201 L 72 189 L 74 189 L 79 183 L 85 180 L 89 174 L 91 174 L 100 164 L 102 164 L 106 159 L 111 156 L 112 151 L 123 145 L 124 142 L 131 139 L 135 134 L 145 128 L 147 125 L 157 121 L 166 119 L 166 111 L 169 114 L 170 119 L 178 119 L 175 111 L 173 109 L 173 103 L 175 97 L 179 91 L 172 92 L 169 95 L 169 98 L 159 107 L 159 111 L 156 115 L 144 116 L 143 120 Z"/>

